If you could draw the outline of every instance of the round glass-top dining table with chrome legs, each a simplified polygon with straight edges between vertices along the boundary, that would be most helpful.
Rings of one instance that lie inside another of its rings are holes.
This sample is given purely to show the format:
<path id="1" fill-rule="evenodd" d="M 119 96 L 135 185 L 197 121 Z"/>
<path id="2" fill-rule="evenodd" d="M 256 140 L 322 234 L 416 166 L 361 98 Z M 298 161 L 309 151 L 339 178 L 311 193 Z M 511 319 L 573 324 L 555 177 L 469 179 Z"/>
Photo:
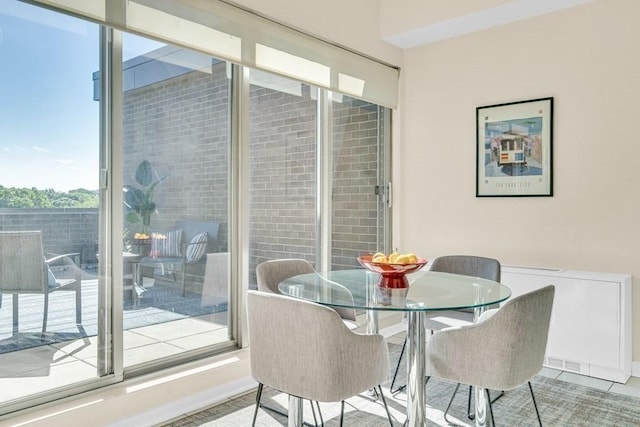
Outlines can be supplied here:
<path id="1" fill-rule="evenodd" d="M 477 320 L 487 306 L 507 300 L 508 287 L 491 280 L 457 274 L 418 271 L 407 276 L 405 289 L 380 288 L 380 276 L 365 269 L 336 270 L 301 274 L 278 285 L 282 294 L 334 308 L 364 310 L 367 333 L 377 333 L 377 313 L 406 313 L 407 327 L 407 420 L 405 425 L 426 425 L 424 381 L 426 375 L 427 313 L 445 310 L 473 309 Z M 476 426 L 484 426 L 486 395 L 474 388 Z M 302 400 L 290 398 L 289 426 L 302 425 Z"/>

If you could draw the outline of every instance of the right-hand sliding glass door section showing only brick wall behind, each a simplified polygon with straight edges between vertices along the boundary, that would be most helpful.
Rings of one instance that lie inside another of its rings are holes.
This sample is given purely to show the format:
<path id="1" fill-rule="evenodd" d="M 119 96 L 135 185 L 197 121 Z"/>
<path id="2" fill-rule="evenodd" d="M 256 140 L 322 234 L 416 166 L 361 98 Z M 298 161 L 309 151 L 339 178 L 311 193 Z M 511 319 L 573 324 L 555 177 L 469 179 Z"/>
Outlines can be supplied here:
<path id="1" fill-rule="evenodd" d="M 389 110 L 250 74 L 249 287 L 270 259 L 336 270 L 388 250 Z"/>

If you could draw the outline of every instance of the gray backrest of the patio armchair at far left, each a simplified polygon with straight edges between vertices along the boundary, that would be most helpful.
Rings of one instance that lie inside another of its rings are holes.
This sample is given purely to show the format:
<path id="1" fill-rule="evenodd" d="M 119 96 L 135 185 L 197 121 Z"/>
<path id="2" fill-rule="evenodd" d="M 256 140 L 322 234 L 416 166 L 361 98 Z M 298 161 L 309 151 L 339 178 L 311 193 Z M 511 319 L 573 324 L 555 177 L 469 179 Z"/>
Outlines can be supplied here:
<path id="1" fill-rule="evenodd" d="M 47 267 L 42 232 L 0 232 L 0 290 L 6 293 L 44 293 Z"/>

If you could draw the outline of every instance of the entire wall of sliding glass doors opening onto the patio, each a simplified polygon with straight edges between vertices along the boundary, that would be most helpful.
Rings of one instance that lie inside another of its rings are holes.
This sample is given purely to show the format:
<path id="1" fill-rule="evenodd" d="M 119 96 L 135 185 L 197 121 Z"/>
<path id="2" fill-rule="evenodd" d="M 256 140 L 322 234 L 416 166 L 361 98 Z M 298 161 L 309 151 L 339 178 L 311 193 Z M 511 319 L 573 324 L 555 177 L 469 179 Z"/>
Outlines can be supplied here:
<path id="1" fill-rule="evenodd" d="M 237 349 L 260 262 L 388 250 L 388 109 L 115 26 L 0 2 L 0 416 Z"/>

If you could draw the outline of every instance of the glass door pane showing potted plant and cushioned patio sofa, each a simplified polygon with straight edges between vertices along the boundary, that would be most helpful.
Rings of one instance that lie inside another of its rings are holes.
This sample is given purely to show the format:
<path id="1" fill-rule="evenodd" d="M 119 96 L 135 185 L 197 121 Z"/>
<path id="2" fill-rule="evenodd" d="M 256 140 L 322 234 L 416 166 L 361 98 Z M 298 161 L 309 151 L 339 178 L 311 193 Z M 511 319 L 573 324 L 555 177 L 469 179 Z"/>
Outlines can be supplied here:
<path id="1" fill-rule="evenodd" d="M 224 347 L 228 65 L 124 34 L 124 367 Z"/>

